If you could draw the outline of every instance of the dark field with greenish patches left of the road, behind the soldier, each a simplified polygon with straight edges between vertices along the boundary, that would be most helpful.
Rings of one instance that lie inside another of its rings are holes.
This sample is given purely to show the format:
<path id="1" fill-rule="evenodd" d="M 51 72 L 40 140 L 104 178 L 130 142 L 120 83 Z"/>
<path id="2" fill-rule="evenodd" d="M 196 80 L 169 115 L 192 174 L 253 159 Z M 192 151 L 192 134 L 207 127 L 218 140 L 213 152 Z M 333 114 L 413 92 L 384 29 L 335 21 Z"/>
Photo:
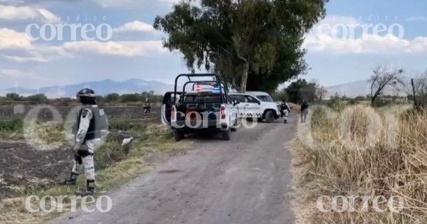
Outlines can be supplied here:
<path id="1" fill-rule="evenodd" d="M 72 166 L 71 145 L 64 139 L 67 134 L 63 123 L 46 122 L 53 119 L 54 112 L 42 109 L 36 116 L 38 121 L 33 124 L 38 137 L 43 140 L 42 145 L 34 144 L 33 139 L 23 135 L 22 120 L 33 108 L 35 106 L 0 107 L 0 200 L 26 195 L 37 188 L 49 188 L 68 176 Z M 65 120 L 73 107 L 54 107 L 54 110 L 59 112 L 60 119 Z M 142 107 L 137 106 L 105 107 L 105 112 L 112 132 L 106 144 L 111 146 L 108 150 L 117 151 L 101 150 L 100 156 L 103 157 L 95 158 L 100 168 L 125 158 L 118 144 L 120 139 L 130 136 L 140 141 L 148 139 L 147 128 L 157 127 L 160 122 L 159 107 L 153 107 L 149 114 L 144 114 Z M 48 150 L 43 150 L 43 145 L 48 146 Z"/>

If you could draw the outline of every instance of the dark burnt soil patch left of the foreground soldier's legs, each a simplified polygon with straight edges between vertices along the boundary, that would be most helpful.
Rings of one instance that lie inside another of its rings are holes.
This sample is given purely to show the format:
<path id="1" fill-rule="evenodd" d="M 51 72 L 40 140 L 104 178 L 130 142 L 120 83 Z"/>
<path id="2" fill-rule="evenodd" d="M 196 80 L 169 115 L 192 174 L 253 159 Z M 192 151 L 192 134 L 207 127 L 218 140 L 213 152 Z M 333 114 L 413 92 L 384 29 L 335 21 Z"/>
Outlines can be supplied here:
<path id="1" fill-rule="evenodd" d="M 42 151 L 22 142 L 0 142 L 0 200 L 19 196 L 37 183 L 47 188 L 70 171 L 72 153 L 66 149 Z"/>

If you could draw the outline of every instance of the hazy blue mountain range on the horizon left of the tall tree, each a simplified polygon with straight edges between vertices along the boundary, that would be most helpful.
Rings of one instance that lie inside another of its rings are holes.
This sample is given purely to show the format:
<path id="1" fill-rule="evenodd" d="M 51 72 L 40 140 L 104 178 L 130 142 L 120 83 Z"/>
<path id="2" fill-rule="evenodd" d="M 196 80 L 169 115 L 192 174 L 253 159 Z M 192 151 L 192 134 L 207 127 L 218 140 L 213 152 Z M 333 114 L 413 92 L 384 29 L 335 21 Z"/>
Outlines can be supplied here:
<path id="1" fill-rule="evenodd" d="M 34 95 L 43 93 L 49 98 L 55 97 L 74 97 L 78 90 L 85 87 L 93 89 L 97 95 L 107 95 L 108 93 L 117 92 L 119 94 L 135 93 L 144 91 L 154 91 L 155 94 L 163 94 L 167 91 L 173 91 L 174 85 L 169 85 L 157 81 L 144 81 L 136 78 L 125 80 L 123 82 L 116 82 L 113 80 L 101 80 L 95 82 L 82 82 L 73 85 L 64 86 L 51 86 L 41 87 L 40 89 L 26 89 L 26 88 L 8 88 L 0 90 L 0 95 L 6 95 L 8 92 L 16 92 L 19 95 Z"/>

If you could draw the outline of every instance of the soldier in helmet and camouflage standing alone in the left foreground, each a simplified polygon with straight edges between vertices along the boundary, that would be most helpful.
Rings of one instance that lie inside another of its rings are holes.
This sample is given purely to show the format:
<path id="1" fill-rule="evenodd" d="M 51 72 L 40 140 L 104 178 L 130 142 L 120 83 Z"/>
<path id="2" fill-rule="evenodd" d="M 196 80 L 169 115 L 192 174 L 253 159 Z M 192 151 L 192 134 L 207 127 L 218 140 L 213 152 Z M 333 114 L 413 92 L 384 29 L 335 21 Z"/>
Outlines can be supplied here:
<path id="1" fill-rule="evenodd" d="M 103 109 L 97 106 L 95 92 L 83 89 L 77 93 L 82 107 L 78 113 L 77 122 L 73 128 L 75 134 L 74 164 L 70 178 L 64 183 L 73 185 L 76 183 L 80 169 L 83 166 L 86 176 L 86 191 L 77 191 L 80 196 L 88 196 L 95 193 L 95 164 L 94 152 L 100 145 L 102 137 L 107 134 L 107 117 Z"/>

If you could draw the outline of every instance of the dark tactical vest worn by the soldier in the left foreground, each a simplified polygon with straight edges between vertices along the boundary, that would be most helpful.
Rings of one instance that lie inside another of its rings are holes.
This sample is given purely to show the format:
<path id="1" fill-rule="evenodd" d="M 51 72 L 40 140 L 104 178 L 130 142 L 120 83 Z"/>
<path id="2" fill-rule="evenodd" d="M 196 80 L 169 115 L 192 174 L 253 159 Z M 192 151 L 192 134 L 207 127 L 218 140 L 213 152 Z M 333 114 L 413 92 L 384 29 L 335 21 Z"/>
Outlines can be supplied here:
<path id="1" fill-rule="evenodd" d="M 73 134 L 77 134 L 78 127 L 80 125 L 80 117 L 83 110 L 89 109 L 92 111 L 92 119 L 90 119 L 90 124 L 88 132 L 86 132 L 85 140 L 90 139 L 99 139 L 105 137 L 107 134 L 107 116 L 105 116 L 104 109 L 97 107 L 97 105 L 83 105 L 83 107 L 78 112 L 77 122 L 75 123 Z"/>

